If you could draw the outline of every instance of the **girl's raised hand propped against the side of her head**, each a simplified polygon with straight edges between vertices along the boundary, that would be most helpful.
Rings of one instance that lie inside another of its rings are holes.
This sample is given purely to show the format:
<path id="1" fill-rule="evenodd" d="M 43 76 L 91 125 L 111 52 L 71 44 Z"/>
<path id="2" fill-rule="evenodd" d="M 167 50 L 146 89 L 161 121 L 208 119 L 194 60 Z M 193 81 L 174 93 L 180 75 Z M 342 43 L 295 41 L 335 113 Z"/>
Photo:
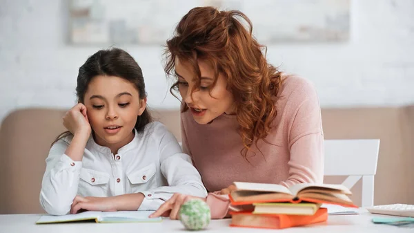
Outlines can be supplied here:
<path id="1" fill-rule="evenodd" d="M 76 104 L 63 116 L 63 126 L 73 135 L 77 133 L 86 133 L 87 138 L 90 136 L 90 124 L 86 114 L 86 106 Z"/>

